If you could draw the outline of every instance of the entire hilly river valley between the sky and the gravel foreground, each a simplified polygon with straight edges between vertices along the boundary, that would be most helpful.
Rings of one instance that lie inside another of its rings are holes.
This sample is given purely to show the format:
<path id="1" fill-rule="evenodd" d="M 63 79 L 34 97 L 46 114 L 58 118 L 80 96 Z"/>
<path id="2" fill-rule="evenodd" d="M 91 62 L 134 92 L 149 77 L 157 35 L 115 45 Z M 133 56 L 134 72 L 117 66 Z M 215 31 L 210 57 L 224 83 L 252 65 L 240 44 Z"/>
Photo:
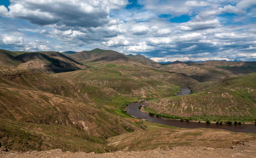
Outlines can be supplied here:
<path id="1" fill-rule="evenodd" d="M 161 64 L 103 49 L 0 57 L 0 142 L 11 151 L 230 149 L 233 140 L 256 138 L 256 62 Z M 134 102 L 147 118 L 129 112 Z M 225 128 L 207 128 L 207 120 Z"/>

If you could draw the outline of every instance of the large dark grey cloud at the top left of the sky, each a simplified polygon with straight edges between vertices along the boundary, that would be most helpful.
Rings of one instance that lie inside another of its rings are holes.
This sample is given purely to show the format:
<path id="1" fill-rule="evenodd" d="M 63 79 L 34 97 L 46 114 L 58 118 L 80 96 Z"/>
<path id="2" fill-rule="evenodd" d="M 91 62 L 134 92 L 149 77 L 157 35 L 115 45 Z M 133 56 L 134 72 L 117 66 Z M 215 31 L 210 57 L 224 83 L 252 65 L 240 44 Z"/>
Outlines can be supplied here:
<path id="1" fill-rule="evenodd" d="M 25 19 L 39 25 L 98 27 L 111 21 L 111 9 L 121 9 L 128 0 L 10 0 L 9 11 L 0 6 L 0 16 Z"/>

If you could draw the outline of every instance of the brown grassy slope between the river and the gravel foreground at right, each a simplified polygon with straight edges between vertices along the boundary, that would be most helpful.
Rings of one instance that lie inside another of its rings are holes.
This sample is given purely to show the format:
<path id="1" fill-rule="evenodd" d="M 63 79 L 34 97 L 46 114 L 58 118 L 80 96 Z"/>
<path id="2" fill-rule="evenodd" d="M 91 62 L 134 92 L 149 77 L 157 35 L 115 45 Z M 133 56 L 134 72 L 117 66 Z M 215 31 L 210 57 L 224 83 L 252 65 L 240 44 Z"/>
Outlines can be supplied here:
<path id="1" fill-rule="evenodd" d="M 233 140 L 254 140 L 254 133 L 234 133 L 220 129 L 184 129 L 144 121 L 145 131 L 124 133 L 108 138 L 108 144 L 120 150 L 143 151 L 174 146 L 230 149 Z M 186 147 L 184 147 L 186 148 Z"/>

